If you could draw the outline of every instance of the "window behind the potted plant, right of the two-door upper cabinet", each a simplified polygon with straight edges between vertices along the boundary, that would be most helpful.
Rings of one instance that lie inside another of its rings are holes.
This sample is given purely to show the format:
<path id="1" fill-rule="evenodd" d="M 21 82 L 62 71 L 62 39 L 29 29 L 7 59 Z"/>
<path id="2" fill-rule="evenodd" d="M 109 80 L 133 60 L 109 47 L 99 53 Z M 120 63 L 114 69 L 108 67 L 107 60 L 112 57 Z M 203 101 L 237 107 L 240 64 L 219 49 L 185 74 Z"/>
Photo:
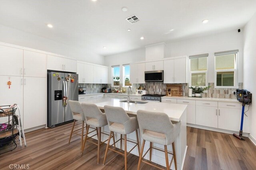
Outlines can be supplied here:
<path id="1" fill-rule="evenodd" d="M 207 58 L 208 54 L 189 56 L 190 86 L 208 86 Z"/>

